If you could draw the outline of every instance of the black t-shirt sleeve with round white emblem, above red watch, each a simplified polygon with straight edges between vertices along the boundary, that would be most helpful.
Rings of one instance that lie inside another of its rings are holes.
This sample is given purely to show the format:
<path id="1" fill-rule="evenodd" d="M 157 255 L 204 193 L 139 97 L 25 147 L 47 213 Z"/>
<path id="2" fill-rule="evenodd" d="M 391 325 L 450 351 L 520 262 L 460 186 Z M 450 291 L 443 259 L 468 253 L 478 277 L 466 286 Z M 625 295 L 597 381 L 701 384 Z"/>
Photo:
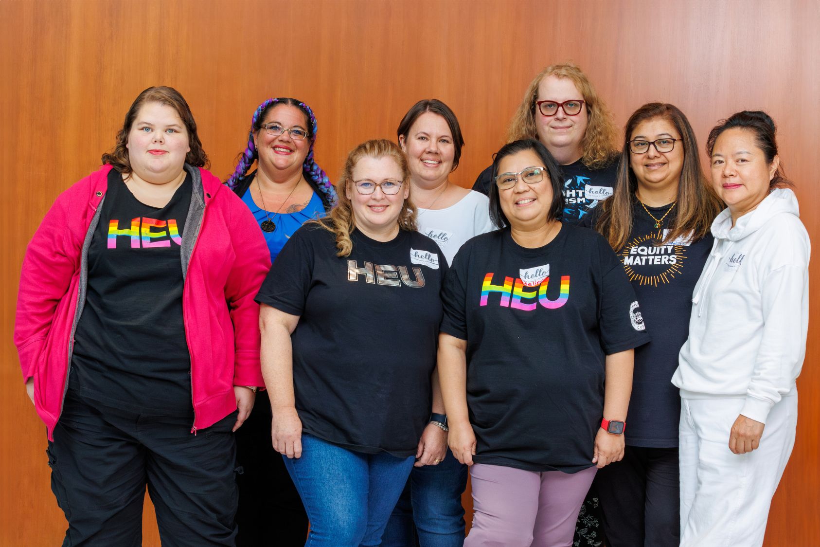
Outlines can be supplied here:
<path id="1" fill-rule="evenodd" d="M 600 272 L 599 330 L 604 353 L 612 355 L 649 342 L 635 289 L 621 262 L 602 236 L 598 237 Z"/>

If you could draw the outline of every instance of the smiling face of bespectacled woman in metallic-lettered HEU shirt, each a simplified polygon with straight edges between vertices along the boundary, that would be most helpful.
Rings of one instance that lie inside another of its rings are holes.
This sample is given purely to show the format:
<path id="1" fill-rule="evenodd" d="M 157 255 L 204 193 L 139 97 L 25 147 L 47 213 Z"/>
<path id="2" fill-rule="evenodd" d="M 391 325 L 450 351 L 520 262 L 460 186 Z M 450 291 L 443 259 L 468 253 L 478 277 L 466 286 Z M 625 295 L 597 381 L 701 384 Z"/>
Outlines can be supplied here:
<path id="1" fill-rule="evenodd" d="M 402 180 L 403 171 L 396 161 L 389 156 L 362 157 L 353 167 L 353 180 L 371 180 L 380 183 L 384 180 Z M 399 226 L 399 214 L 404 200 L 408 198 L 409 188 L 405 181 L 398 194 L 387 195 L 381 187 L 372 194 L 359 194 L 353 182 L 348 182 L 344 189 L 353 207 L 353 218 L 356 226 L 371 239 L 380 239 L 380 235 L 389 234 Z"/>

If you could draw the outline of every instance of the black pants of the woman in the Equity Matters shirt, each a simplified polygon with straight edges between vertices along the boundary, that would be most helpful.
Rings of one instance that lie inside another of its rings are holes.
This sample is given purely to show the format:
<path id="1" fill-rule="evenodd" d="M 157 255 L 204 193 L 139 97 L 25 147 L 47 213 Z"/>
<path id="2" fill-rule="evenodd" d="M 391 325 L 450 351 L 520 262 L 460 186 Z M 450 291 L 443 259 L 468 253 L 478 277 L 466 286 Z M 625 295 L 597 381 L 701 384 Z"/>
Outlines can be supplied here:
<path id="1" fill-rule="evenodd" d="M 680 545 L 677 449 L 626 446 L 620 462 L 599 469 L 594 486 L 608 547 Z"/>

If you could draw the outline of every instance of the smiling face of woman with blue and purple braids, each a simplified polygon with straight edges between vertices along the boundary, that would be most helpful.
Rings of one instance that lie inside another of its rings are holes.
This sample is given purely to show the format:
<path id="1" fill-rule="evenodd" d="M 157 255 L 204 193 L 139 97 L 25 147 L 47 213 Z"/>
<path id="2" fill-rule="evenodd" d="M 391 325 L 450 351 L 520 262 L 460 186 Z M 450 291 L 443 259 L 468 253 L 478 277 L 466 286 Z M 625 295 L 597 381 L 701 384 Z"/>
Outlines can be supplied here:
<path id="1" fill-rule="evenodd" d="M 285 129 L 309 131 L 305 113 L 289 104 L 280 104 L 268 109 L 262 125 L 276 123 Z M 271 180 L 280 180 L 301 171 L 302 164 L 310 151 L 310 138 L 302 140 L 290 138 L 289 131 L 274 136 L 265 129 L 253 134 L 253 143 L 259 155 L 259 168 Z"/>

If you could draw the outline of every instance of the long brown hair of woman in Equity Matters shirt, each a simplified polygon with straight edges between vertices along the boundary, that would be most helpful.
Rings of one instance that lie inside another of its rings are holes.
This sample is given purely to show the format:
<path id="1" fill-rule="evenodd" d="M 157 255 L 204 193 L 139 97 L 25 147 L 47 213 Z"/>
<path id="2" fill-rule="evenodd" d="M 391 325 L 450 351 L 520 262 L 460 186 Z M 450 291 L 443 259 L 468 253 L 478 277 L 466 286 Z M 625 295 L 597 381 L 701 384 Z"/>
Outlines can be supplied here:
<path id="1" fill-rule="evenodd" d="M 720 199 L 708 185 L 704 171 L 700 167 L 698 144 L 689 120 L 672 104 L 645 104 L 633 112 L 629 121 L 626 121 L 615 190 L 611 198 L 601 203 L 601 215 L 595 224 L 595 229 L 608 239 L 616 252 L 626 244 L 632 231 L 632 207 L 638 188 L 638 180 L 630 166 L 629 140 L 635 127 L 654 118 L 663 118 L 674 125 L 681 134 L 682 142 L 679 145 L 683 146 L 681 180 L 677 185 L 676 215 L 664 243 L 689 232 L 692 233 L 692 239 L 703 238 L 722 209 Z"/>

